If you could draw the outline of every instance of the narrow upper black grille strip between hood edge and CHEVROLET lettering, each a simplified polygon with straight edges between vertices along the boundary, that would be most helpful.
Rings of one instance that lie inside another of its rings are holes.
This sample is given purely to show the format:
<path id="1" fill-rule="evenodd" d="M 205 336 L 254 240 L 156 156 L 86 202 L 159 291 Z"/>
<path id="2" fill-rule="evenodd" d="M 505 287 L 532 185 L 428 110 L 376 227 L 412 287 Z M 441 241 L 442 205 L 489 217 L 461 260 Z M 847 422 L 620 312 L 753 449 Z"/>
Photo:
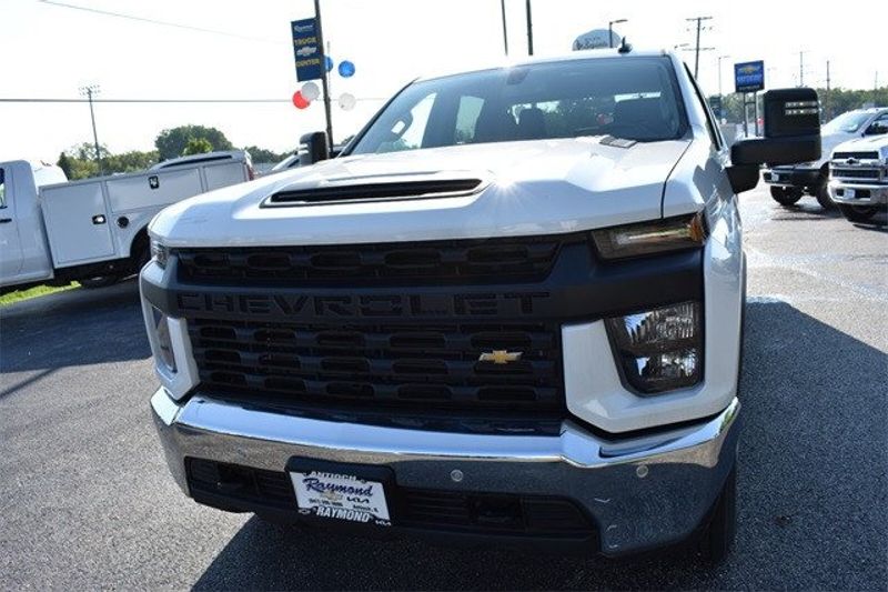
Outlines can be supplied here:
<path id="1" fill-rule="evenodd" d="M 552 269 L 558 250 L 583 235 L 521 237 L 352 245 L 245 247 L 178 250 L 182 279 L 251 284 L 385 280 L 509 282 L 538 280 Z"/>

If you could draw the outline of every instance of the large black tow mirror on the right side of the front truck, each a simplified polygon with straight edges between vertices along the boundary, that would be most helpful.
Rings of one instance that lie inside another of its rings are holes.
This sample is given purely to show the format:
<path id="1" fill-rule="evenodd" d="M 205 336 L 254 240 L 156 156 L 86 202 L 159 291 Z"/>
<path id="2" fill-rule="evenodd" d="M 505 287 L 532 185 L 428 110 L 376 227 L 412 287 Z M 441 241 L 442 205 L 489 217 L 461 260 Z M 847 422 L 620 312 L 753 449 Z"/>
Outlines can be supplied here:
<path id="1" fill-rule="evenodd" d="M 814 89 L 769 90 L 764 97 L 765 138 L 730 148 L 728 177 L 735 193 L 758 183 L 758 167 L 820 160 L 820 106 Z"/>

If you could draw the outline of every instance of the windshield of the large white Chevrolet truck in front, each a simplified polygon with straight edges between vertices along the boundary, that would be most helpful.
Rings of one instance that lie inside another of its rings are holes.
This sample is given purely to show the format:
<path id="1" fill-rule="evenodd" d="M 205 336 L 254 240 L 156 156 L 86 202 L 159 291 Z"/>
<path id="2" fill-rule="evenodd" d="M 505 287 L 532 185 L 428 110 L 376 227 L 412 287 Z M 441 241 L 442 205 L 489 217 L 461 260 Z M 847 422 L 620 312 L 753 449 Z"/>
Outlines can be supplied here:
<path id="1" fill-rule="evenodd" d="M 667 58 L 601 58 L 485 70 L 411 84 L 352 154 L 454 144 L 685 133 Z"/>

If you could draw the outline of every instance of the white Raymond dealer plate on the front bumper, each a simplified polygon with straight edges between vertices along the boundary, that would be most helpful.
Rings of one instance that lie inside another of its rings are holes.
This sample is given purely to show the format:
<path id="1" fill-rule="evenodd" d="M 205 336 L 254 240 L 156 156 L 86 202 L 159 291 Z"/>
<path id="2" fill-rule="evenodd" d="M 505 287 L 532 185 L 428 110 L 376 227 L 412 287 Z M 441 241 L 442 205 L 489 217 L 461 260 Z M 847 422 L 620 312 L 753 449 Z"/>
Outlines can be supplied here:
<path id="1" fill-rule="evenodd" d="M 291 472 L 300 514 L 391 526 L 385 489 L 377 481 L 321 471 Z"/>

